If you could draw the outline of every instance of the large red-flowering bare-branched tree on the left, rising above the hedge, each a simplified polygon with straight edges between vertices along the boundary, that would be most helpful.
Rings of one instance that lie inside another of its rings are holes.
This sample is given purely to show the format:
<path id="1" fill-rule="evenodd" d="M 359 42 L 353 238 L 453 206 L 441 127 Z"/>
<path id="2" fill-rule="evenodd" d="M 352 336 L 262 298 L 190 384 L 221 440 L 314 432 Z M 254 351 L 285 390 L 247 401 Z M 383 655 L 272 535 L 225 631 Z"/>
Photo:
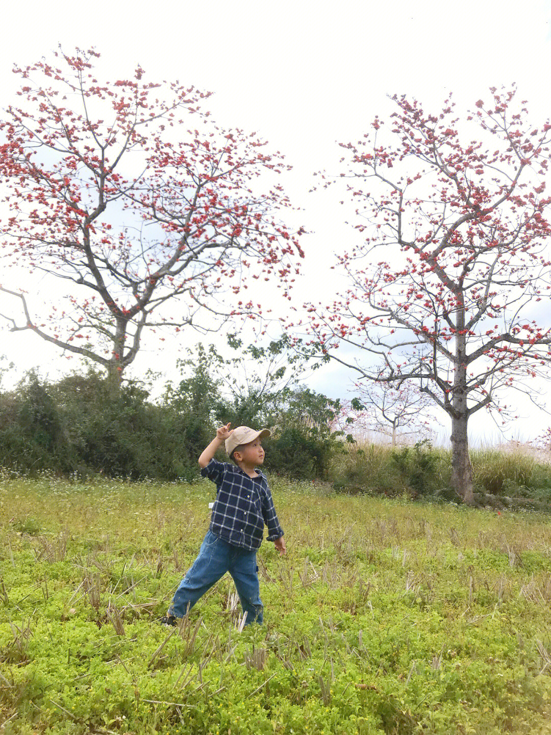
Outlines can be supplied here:
<path id="1" fill-rule="evenodd" d="M 0 121 L 2 244 L 29 274 L 68 284 L 67 304 L 54 295 L 34 318 L 23 287 L 6 275 L 0 286 L 21 299 L 12 330 L 92 359 L 117 385 L 146 328 L 206 331 L 260 313 L 241 295 L 247 274 L 277 276 L 288 295 L 302 231 L 279 219 L 289 207 L 269 181 L 288 168 L 279 152 L 212 123 L 198 107 L 210 93 L 145 82 L 139 66 L 98 82 L 98 56 L 60 50 L 14 69 L 23 101 Z"/>

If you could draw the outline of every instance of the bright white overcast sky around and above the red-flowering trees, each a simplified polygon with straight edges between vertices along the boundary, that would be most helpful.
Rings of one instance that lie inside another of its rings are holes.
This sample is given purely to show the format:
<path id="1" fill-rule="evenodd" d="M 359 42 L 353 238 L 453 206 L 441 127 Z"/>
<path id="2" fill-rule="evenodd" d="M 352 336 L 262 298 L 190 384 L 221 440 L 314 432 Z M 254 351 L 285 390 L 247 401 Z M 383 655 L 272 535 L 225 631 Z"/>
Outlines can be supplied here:
<path id="1" fill-rule="evenodd" d="M 308 193 L 313 171 L 338 170 L 335 141 L 358 140 L 374 115 L 386 117 L 393 107 L 387 95 L 407 93 L 439 110 L 453 91 L 464 110 L 489 87 L 511 82 L 529 101 L 533 122 L 542 122 L 551 115 L 550 18 L 551 3 L 542 0 L 23 0 L 2 10 L 1 104 L 17 85 L 13 62 L 31 63 L 58 43 L 67 51 L 95 46 L 107 79 L 125 76 L 139 62 L 153 80 L 211 90 L 205 107 L 216 121 L 257 131 L 293 165 L 285 190 L 302 208 L 296 221 L 313 231 L 303 238 L 304 282 L 296 287 L 302 303 L 320 290 L 326 295 L 332 253 L 357 237 L 343 224 L 350 212 L 336 193 Z M 59 352 L 32 334 L 3 330 L 0 337 L 0 354 L 20 374 L 32 366 L 50 375 L 67 369 Z M 159 365 L 170 370 L 178 345 L 163 344 L 162 352 L 145 345 L 134 374 Z M 333 367 L 318 371 L 311 384 L 344 397 L 350 383 L 351 376 Z M 508 427 L 508 437 L 534 438 L 551 424 L 551 416 L 522 406 L 522 396 L 511 399 L 525 418 Z M 477 416 L 472 438 L 488 440 L 492 426 Z"/>

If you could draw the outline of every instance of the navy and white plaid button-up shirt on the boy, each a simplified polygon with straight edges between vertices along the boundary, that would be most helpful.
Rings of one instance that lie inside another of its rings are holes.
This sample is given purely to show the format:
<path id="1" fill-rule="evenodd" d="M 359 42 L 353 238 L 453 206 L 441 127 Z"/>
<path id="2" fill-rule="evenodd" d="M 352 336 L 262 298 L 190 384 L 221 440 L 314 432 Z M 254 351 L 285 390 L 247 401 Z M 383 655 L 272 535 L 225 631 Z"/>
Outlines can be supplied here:
<path id="1" fill-rule="evenodd" d="M 216 459 L 201 470 L 202 477 L 212 480 L 217 490 L 211 531 L 233 546 L 250 550 L 260 547 L 264 523 L 268 526 L 269 541 L 283 535 L 266 477 L 260 470 L 256 472 L 258 477 L 249 477 L 237 465 Z"/>

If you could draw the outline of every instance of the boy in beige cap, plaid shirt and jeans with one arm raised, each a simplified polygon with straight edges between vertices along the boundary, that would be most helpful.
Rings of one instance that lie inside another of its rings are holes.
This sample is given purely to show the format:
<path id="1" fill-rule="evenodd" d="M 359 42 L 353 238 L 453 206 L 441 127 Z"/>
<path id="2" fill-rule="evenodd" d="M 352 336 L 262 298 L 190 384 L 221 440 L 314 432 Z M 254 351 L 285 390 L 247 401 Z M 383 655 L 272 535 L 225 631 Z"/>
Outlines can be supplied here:
<path id="1" fill-rule="evenodd" d="M 280 554 L 286 551 L 266 477 L 258 470 L 264 462 L 261 440 L 269 435 L 269 429 L 255 431 L 249 426 L 230 429 L 228 423 L 216 429 L 216 438 L 202 452 L 201 475 L 212 480 L 217 490 L 211 526 L 199 556 L 180 582 L 161 623 L 177 625 L 178 618 L 226 572 L 233 577 L 243 612 L 247 613 L 245 625 L 255 620 L 262 623 L 256 552 L 262 543 L 265 523 L 268 540 L 274 542 Z M 222 442 L 235 465 L 214 459 Z"/>

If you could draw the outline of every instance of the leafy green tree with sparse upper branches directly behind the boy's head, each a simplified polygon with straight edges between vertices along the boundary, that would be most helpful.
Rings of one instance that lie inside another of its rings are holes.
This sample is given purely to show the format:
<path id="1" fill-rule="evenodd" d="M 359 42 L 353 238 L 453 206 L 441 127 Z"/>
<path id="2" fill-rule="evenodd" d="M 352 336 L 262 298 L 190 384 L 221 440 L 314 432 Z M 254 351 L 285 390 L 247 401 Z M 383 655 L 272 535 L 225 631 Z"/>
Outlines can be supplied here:
<path id="1" fill-rule="evenodd" d="M 296 478 L 324 476 L 340 448 L 343 432 L 332 431 L 340 404 L 301 386 L 307 357 L 287 335 L 267 345 L 244 345 L 230 334 L 227 343 L 234 351 L 229 357 L 214 345 L 190 351 L 189 359 L 179 362 L 188 376 L 167 393 L 170 405 L 193 415 L 199 452 L 216 424 L 266 426 L 272 431 L 266 445 L 269 470 Z"/>

